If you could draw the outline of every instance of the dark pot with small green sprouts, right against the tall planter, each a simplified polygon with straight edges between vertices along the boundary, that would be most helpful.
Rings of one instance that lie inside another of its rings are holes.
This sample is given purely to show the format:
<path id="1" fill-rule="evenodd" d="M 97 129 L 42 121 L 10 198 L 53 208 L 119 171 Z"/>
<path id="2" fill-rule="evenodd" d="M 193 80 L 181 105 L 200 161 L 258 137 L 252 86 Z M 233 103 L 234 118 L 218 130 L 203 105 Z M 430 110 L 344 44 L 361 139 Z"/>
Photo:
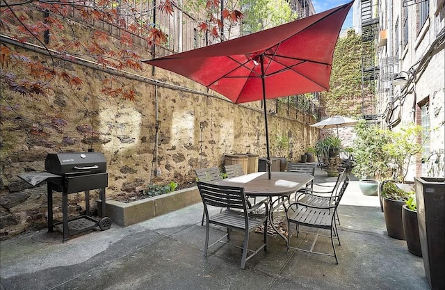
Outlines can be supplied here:
<path id="1" fill-rule="evenodd" d="M 403 204 L 402 223 L 408 250 L 412 254 L 422 257 L 419 238 L 419 222 L 417 220 L 416 195 L 414 195 L 414 191 L 410 193 L 410 198 L 405 200 L 405 204 Z"/>

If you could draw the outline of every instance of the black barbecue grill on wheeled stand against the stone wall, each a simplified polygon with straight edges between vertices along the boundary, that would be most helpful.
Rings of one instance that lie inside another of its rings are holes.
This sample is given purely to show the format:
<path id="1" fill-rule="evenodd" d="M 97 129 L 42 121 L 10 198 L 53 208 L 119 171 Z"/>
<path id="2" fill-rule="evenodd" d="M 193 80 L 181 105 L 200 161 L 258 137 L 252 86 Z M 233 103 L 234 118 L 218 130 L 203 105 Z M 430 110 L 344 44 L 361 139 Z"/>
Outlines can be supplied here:
<path id="1" fill-rule="evenodd" d="M 69 236 L 99 226 L 109 229 L 111 219 L 105 216 L 105 188 L 108 173 L 104 154 L 97 152 L 48 154 L 44 161 L 47 172 L 57 177 L 47 179 L 48 190 L 48 232 L 58 229 L 63 232 L 63 241 Z M 88 216 L 90 212 L 90 190 L 99 189 L 102 200 L 102 218 Z M 53 221 L 53 191 L 62 193 L 62 222 Z M 86 215 L 68 218 L 68 194 L 85 191 Z"/>

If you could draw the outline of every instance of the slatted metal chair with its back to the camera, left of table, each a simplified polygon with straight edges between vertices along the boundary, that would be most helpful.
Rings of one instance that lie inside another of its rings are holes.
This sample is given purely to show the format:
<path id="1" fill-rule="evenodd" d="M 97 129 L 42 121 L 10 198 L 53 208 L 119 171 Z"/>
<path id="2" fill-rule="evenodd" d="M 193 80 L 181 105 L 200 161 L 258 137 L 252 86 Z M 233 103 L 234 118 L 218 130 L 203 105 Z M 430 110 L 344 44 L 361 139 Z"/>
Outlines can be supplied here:
<path id="1" fill-rule="evenodd" d="M 267 250 L 268 205 L 266 202 L 262 202 L 262 204 L 259 203 L 249 209 L 244 189 L 242 187 L 220 186 L 216 184 L 197 182 L 197 188 L 200 191 L 202 203 L 204 204 L 204 213 L 207 220 L 206 241 L 204 245 L 205 257 L 207 257 L 207 250 L 211 248 L 211 246 L 216 245 L 216 243 L 232 245 L 243 250 L 243 254 L 241 256 L 241 269 L 243 269 L 245 266 L 245 261 L 248 261 L 248 259 L 256 255 L 262 248 Z M 209 210 L 207 208 L 209 205 L 213 207 L 220 207 L 223 209 L 223 211 L 221 211 L 219 214 L 209 216 Z M 253 211 L 262 205 L 266 207 L 266 213 L 253 214 Z M 227 234 L 211 245 L 209 245 L 210 224 L 227 228 Z M 249 250 L 249 234 L 261 225 L 264 225 L 264 243 L 259 246 L 257 250 Z M 230 240 L 231 229 L 244 232 L 244 241 L 241 247 L 234 245 L 233 243 L 223 241 L 223 239 L 226 237 L 227 240 Z M 252 254 L 248 255 L 248 252 L 251 252 Z"/>

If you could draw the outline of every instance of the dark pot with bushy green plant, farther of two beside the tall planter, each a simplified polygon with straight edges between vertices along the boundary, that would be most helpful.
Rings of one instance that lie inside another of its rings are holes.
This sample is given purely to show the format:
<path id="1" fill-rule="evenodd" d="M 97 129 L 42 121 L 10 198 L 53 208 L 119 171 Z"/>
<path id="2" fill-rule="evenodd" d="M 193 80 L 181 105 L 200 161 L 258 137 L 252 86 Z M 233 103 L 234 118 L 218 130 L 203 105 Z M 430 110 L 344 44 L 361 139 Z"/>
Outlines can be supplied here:
<path id="1" fill-rule="evenodd" d="M 410 197 L 410 193 L 398 188 L 396 182 L 385 180 L 382 185 L 383 213 L 385 214 L 385 224 L 388 236 L 391 238 L 404 240 L 402 222 L 402 207 Z"/>

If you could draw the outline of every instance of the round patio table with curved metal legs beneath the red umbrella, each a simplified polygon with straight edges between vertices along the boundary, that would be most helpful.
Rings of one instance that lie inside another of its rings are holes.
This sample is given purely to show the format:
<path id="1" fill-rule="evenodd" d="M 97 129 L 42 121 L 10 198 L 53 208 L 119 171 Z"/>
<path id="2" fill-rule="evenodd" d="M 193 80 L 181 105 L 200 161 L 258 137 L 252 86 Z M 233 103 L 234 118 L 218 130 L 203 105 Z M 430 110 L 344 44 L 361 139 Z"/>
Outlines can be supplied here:
<path id="1" fill-rule="evenodd" d="M 287 236 L 278 231 L 273 223 L 273 211 L 279 209 L 286 200 L 289 200 L 289 195 L 305 187 L 312 179 L 314 179 L 312 175 L 297 172 L 272 172 L 270 179 L 268 179 L 267 172 L 254 172 L 223 179 L 216 184 L 243 187 L 245 195 L 249 197 L 268 198 L 270 204 L 268 221 L 270 226 L 286 241 L 287 245 Z"/>

